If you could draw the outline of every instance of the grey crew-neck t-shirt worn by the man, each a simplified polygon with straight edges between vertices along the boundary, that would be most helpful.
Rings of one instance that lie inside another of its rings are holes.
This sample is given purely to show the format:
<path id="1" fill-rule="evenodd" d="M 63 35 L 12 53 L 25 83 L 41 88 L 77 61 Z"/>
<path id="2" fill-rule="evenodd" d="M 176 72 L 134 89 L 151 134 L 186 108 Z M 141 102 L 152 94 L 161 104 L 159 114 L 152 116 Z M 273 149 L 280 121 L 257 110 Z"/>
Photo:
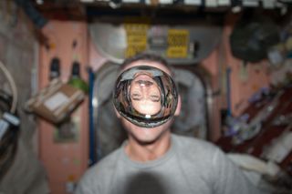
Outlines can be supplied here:
<path id="1" fill-rule="evenodd" d="M 211 143 L 172 135 L 171 148 L 149 162 L 130 160 L 123 146 L 85 173 L 76 194 L 255 194 L 235 164 Z"/>

